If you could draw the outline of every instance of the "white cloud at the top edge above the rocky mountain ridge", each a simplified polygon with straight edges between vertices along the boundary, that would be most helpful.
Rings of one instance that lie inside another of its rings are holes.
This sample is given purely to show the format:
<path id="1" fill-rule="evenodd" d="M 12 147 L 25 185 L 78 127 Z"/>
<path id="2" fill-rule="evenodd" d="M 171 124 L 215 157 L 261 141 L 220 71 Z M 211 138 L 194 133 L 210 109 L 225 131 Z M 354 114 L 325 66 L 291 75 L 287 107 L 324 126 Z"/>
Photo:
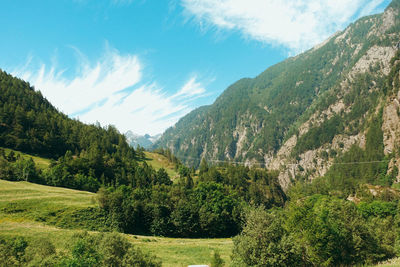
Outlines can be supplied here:
<path id="1" fill-rule="evenodd" d="M 181 0 L 203 27 L 240 31 L 246 37 L 284 45 L 298 53 L 370 14 L 384 0 Z"/>

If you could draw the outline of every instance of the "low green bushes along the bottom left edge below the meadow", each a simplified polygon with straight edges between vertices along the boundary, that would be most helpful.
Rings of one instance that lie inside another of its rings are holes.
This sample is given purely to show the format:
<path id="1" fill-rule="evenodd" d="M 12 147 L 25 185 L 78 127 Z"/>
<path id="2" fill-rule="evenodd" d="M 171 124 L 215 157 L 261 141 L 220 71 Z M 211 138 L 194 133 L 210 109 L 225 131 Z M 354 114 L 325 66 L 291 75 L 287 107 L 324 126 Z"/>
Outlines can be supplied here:
<path id="1" fill-rule="evenodd" d="M 161 262 L 134 247 L 119 234 L 89 235 L 79 233 L 73 237 L 69 253 L 59 253 L 44 238 L 27 241 L 25 238 L 0 239 L 0 266 L 141 266 L 158 267 Z"/>

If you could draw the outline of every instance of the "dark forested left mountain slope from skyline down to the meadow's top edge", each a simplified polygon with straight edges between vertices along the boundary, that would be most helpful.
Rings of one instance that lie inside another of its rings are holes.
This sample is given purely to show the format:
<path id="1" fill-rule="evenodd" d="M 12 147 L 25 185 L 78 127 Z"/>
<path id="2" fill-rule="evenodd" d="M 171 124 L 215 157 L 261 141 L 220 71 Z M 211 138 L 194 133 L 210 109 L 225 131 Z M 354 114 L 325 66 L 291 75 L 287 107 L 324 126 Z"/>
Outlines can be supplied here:
<path id="1" fill-rule="evenodd" d="M 0 179 L 96 192 L 101 186 L 149 183 L 153 168 L 113 126 L 87 125 L 59 112 L 39 91 L 0 70 Z M 38 171 L 17 150 L 52 159 Z"/>

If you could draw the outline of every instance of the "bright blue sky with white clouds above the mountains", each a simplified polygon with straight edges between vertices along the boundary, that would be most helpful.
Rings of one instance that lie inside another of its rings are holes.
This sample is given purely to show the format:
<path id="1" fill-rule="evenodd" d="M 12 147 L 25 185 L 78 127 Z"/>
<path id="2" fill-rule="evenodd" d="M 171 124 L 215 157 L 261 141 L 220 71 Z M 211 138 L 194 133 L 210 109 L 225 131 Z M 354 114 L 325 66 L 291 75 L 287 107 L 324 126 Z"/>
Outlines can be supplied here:
<path id="1" fill-rule="evenodd" d="M 155 135 L 390 0 L 2 0 L 0 69 L 85 123 Z"/>

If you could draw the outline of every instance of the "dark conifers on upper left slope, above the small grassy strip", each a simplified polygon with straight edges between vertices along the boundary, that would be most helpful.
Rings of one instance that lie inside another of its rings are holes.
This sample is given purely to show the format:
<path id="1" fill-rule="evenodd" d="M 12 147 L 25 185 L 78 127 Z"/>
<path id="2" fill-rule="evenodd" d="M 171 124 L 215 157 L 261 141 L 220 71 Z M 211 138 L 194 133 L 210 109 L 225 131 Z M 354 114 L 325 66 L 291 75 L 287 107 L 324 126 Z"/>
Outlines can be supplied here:
<path id="1" fill-rule="evenodd" d="M 100 156 L 134 156 L 125 137 L 109 126 L 85 125 L 58 112 L 28 83 L 0 72 L 0 146 L 57 159 L 99 148 Z"/>

